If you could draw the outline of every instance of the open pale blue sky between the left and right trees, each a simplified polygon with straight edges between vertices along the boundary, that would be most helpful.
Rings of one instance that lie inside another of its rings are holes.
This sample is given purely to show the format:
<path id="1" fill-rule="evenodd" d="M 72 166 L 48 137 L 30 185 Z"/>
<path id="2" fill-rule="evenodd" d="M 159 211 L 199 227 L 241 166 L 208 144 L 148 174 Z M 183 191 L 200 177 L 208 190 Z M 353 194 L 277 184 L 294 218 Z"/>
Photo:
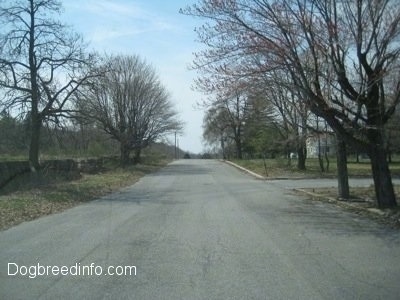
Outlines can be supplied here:
<path id="1" fill-rule="evenodd" d="M 195 71 L 189 71 L 201 21 L 179 14 L 195 0 L 63 0 L 62 18 L 99 52 L 138 54 L 152 64 L 171 93 L 185 122 L 179 137 L 183 150 L 202 151 L 203 113 L 196 108 L 202 95 L 191 90 Z M 170 137 L 170 141 L 173 138 Z"/>

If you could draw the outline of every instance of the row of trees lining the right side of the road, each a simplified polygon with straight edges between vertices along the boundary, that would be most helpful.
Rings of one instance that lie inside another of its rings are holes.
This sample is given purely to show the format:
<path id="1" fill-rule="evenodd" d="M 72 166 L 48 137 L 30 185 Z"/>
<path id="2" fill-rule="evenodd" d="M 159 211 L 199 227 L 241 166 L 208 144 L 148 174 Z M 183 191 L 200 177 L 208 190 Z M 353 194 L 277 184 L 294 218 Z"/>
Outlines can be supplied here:
<path id="1" fill-rule="evenodd" d="M 262 99 L 263 117 L 275 120 L 263 126 L 295 141 L 299 168 L 304 137 L 327 127 L 338 141 L 342 196 L 351 147 L 370 158 L 378 205 L 396 206 L 387 159 L 400 102 L 396 0 L 199 0 L 181 12 L 206 20 L 196 29 L 206 47 L 193 68 L 196 88 L 210 96 L 207 137 L 231 135 L 241 157 L 245 119 L 257 119 L 254 102 Z"/>

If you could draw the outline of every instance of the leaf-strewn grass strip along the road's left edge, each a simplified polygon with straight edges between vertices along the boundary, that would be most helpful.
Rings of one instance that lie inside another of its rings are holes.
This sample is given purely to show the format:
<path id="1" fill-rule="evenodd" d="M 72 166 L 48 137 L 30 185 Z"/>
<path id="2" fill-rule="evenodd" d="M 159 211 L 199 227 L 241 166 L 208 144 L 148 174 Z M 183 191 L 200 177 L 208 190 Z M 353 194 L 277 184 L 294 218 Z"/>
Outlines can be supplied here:
<path id="1" fill-rule="evenodd" d="M 61 212 L 132 185 L 167 163 L 167 160 L 160 160 L 125 169 L 109 166 L 101 173 L 83 174 L 79 179 L 52 178 L 42 180 L 39 185 L 25 184 L 15 191 L 3 190 L 0 194 L 0 230 Z"/>

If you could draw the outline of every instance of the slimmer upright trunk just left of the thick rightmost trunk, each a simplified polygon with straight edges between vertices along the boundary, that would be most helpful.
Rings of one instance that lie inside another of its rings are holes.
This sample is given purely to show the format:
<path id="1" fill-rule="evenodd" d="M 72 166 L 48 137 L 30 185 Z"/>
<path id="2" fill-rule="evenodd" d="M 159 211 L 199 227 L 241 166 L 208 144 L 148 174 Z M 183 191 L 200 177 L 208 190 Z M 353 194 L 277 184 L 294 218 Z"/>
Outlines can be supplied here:
<path id="1" fill-rule="evenodd" d="M 342 199 L 350 198 L 350 188 L 349 188 L 349 173 L 347 170 L 347 151 L 346 143 L 340 137 L 339 134 L 336 135 L 337 139 L 337 176 L 338 176 L 338 197 Z"/>

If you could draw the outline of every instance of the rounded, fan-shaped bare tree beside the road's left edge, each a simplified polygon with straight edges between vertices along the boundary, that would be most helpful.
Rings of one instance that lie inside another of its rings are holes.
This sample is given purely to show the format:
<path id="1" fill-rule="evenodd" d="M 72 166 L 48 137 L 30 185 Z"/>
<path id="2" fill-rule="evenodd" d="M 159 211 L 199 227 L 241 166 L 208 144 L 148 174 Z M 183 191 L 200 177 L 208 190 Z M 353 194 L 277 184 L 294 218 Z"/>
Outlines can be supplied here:
<path id="1" fill-rule="evenodd" d="M 151 142 L 182 130 L 167 90 L 139 56 L 107 57 L 97 72 L 104 76 L 86 86 L 81 109 L 120 143 L 121 165 L 132 151 L 138 162 Z"/>

